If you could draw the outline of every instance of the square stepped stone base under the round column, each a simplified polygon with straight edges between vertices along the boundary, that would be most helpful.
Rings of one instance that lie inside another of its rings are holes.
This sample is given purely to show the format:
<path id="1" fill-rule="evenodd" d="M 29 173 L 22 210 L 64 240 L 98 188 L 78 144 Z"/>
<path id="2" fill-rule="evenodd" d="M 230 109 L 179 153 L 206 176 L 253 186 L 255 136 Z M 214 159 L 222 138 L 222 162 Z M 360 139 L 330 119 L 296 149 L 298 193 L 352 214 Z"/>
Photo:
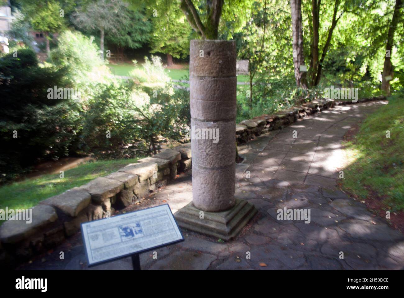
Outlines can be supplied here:
<path id="1" fill-rule="evenodd" d="M 254 205 L 246 200 L 236 199 L 236 204 L 229 210 L 223 212 L 204 211 L 203 218 L 200 218 L 200 212 L 201 210 L 191 202 L 176 212 L 174 216 L 181 228 L 230 240 L 241 231 L 257 213 L 257 210 Z"/>

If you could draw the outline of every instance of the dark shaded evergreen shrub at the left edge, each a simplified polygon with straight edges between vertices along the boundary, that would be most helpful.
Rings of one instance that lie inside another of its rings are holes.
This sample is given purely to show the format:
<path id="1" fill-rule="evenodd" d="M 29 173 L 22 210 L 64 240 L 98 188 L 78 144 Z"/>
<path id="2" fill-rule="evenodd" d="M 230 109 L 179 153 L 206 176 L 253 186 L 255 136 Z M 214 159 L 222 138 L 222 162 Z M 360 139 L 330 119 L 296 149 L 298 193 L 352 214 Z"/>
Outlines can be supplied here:
<path id="1" fill-rule="evenodd" d="M 63 67 L 39 67 L 30 49 L 0 58 L 0 182 L 27 172 L 41 157 L 69 153 L 79 106 L 74 99 L 48 98 L 48 88 L 70 87 L 65 78 Z"/>

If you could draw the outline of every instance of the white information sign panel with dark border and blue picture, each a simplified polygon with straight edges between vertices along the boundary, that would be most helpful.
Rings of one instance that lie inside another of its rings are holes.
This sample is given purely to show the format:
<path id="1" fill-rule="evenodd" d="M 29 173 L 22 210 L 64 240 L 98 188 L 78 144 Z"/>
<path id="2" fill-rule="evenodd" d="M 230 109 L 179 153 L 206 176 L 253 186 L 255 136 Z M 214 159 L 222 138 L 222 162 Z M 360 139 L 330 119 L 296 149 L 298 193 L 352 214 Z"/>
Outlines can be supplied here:
<path id="1" fill-rule="evenodd" d="M 168 204 L 81 225 L 88 265 L 183 240 Z"/>

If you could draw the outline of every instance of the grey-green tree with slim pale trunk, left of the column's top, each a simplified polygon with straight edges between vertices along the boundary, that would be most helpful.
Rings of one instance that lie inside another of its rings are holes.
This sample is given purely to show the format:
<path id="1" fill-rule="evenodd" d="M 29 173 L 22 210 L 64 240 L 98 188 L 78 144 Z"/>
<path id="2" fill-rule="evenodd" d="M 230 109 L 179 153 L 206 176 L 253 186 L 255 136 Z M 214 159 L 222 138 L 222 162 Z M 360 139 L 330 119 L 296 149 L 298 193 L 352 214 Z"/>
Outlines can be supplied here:
<path id="1" fill-rule="evenodd" d="M 82 6 L 72 14 L 72 22 L 84 30 L 96 30 L 100 34 L 101 57 L 104 59 L 105 34 L 118 35 L 130 22 L 127 4 L 122 0 L 97 0 Z"/>

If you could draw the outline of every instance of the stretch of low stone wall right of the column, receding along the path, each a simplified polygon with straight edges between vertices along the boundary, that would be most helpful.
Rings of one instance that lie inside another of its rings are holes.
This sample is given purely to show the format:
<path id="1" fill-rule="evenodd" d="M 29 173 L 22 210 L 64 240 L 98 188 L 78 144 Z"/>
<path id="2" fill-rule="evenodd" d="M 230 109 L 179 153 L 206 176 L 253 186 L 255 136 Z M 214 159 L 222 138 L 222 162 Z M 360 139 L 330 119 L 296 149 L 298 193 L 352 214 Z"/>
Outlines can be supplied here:
<path id="1" fill-rule="evenodd" d="M 383 99 L 385 99 L 384 96 L 370 97 L 368 99 L 358 99 L 358 103 Z M 318 99 L 304 103 L 301 106 L 291 107 L 290 109 L 280 111 L 274 115 L 261 115 L 250 120 L 243 120 L 236 125 L 237 144 L 246 143 L 265 132 L 282 129 L 296 122 L 298 119 L 304 118 L 306 115 L 317 113 L 318 111 L 331 108 L 335 105 L 347 105 L 351 103 L 351 101 Z"/>

